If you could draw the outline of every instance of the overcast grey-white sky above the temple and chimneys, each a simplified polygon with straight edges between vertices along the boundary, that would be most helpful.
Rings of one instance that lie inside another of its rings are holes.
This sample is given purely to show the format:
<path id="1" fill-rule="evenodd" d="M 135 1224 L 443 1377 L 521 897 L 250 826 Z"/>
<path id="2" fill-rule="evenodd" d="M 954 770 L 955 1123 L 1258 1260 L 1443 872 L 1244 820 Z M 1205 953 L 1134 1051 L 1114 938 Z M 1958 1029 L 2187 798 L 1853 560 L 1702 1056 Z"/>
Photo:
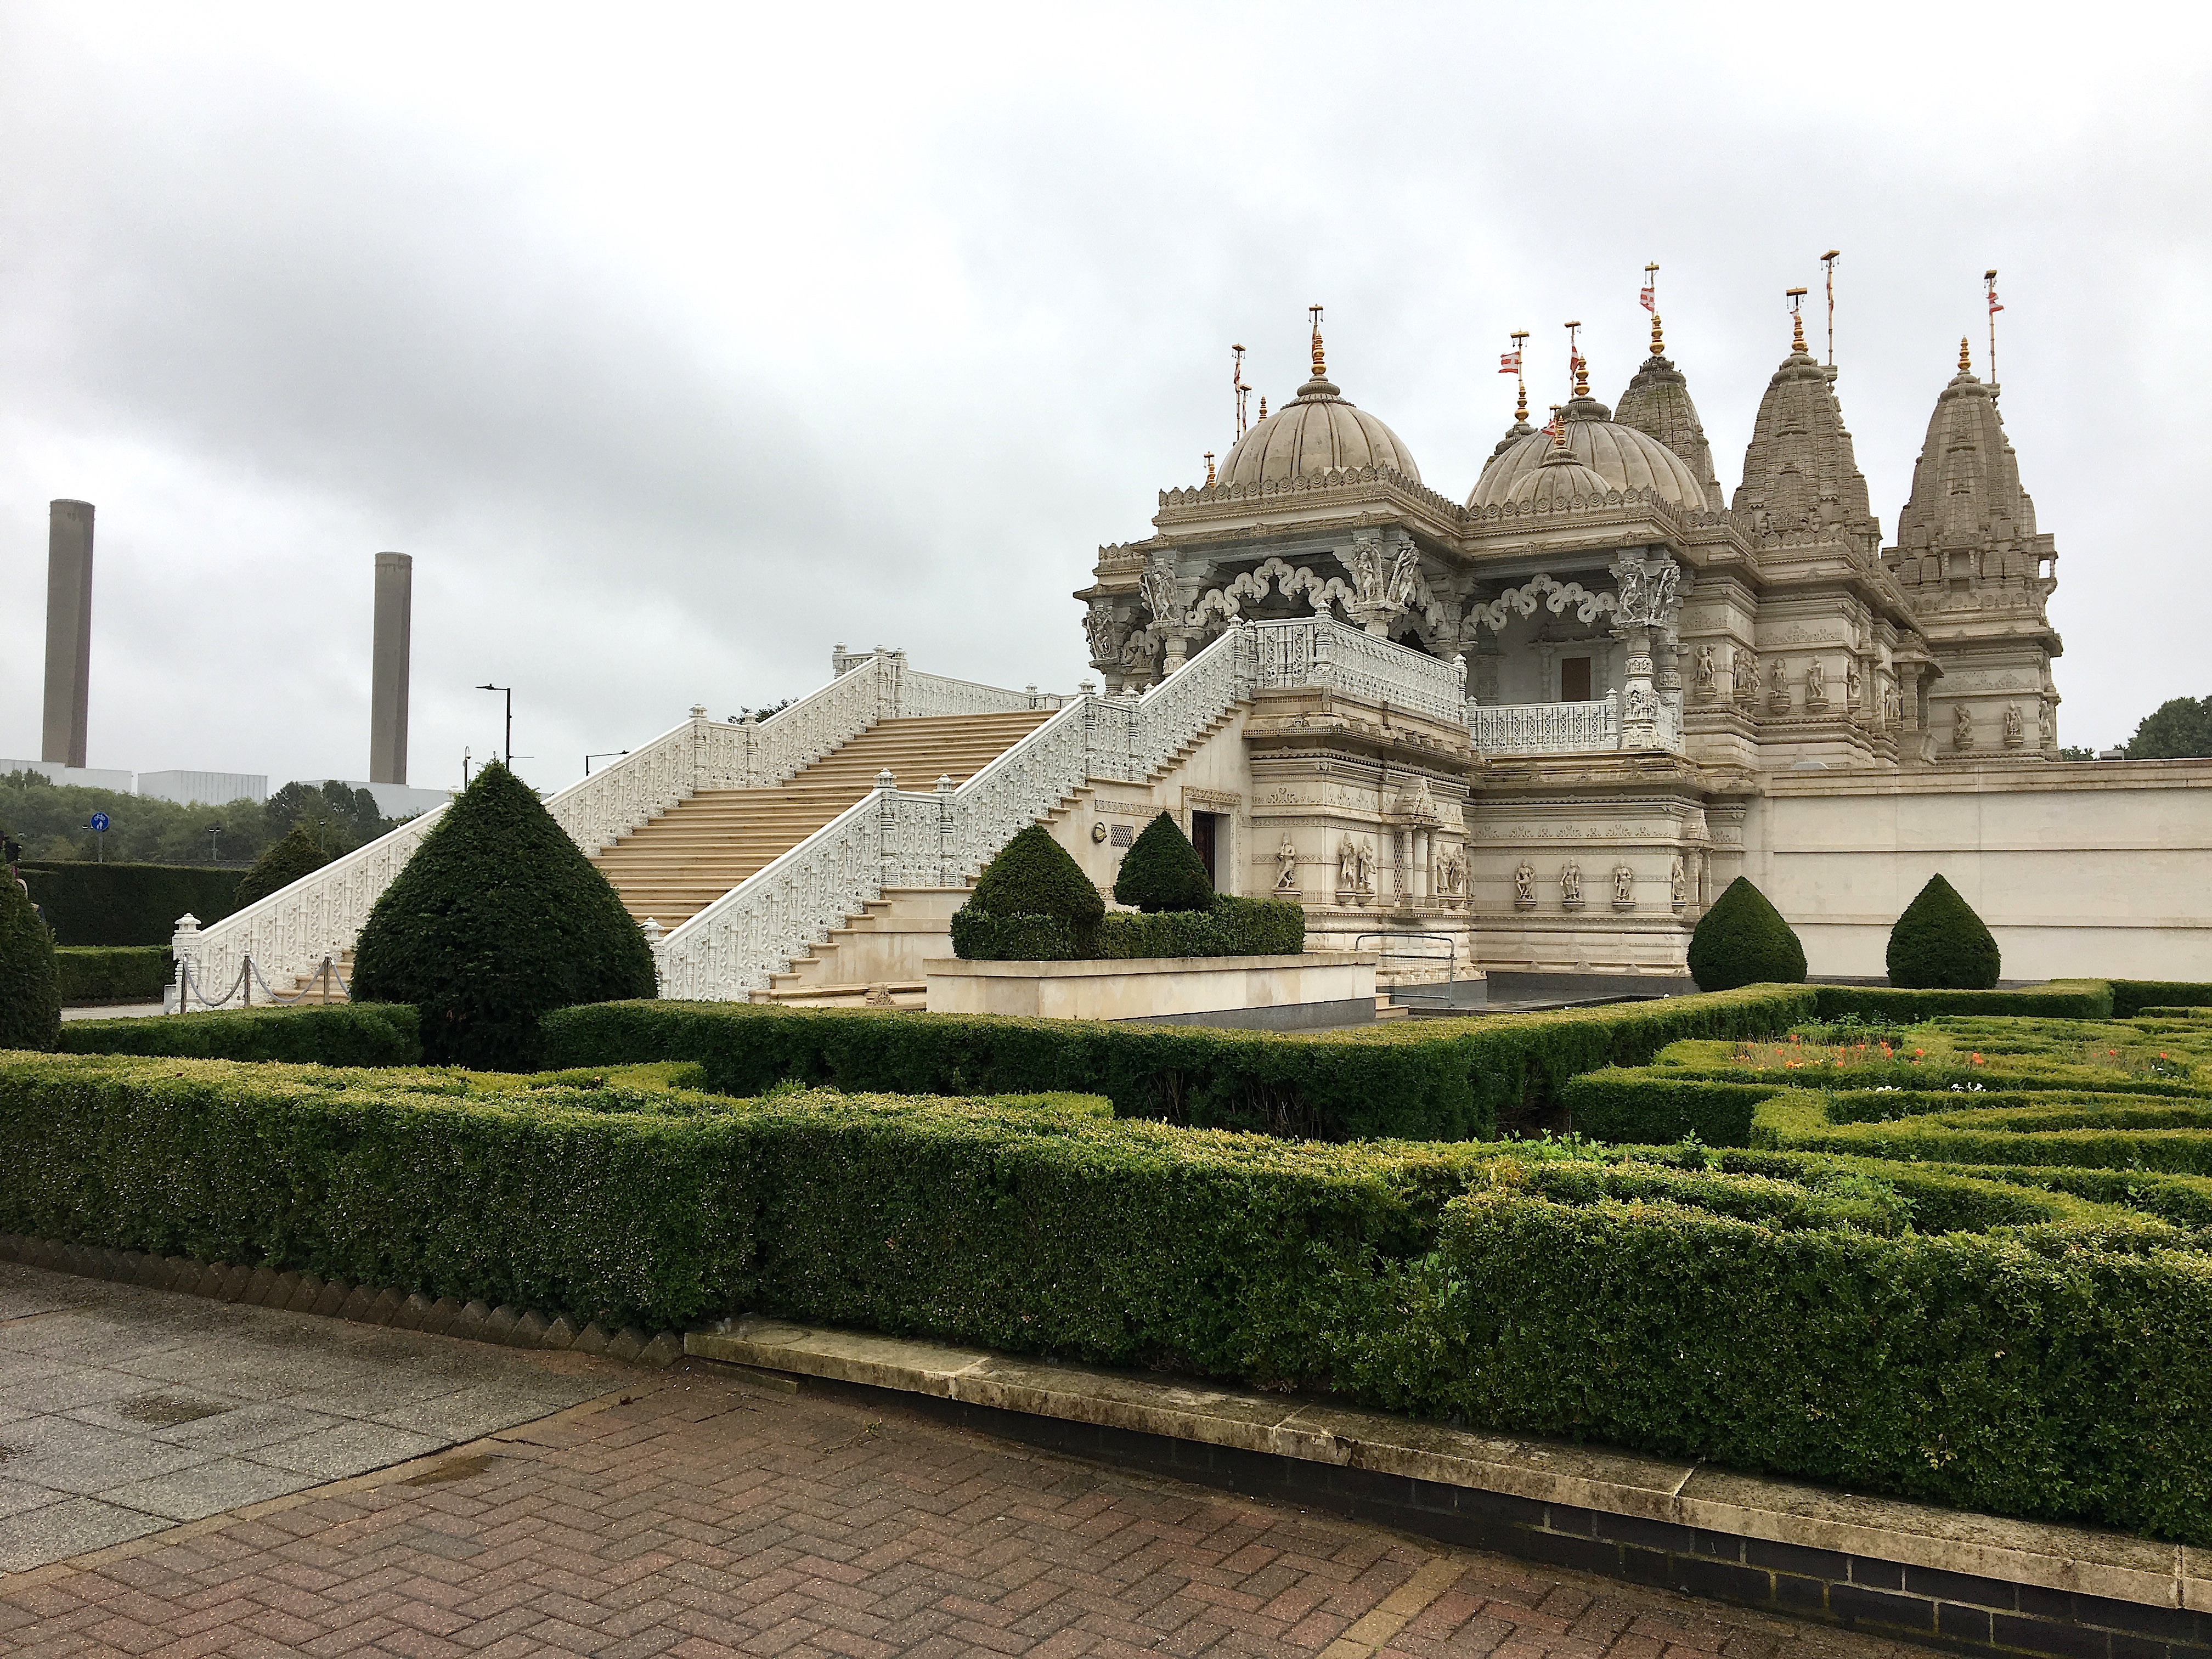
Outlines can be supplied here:
<path id="1" fill-rule="evenodd" d="M 2208 24 L 2137 7 L 128 7 L 0 0 L 0 754 L 46 502 L 100 509 L 91 763 L 365 776 L 416 557 L 411 783 L 515 690 L 573 781 L 830 646 L 1073 688 L 1099 542 L 1329 367 L 1464 498 L 1661 263 L 1732 489 L 1838 268 L 1893 531 L 2002 270 L 2057 535 L 2059 737 L 2212 692 Z"/>

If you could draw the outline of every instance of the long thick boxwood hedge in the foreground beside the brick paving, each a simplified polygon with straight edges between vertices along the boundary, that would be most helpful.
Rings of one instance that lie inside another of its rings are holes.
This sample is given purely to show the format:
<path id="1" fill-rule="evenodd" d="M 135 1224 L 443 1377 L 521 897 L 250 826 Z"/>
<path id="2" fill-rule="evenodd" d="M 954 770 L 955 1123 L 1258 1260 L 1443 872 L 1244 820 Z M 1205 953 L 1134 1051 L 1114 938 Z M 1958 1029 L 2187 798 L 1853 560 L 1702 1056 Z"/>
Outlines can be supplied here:
<path id="1" fill-rule="evenodd" d="M 2201 1239 L 2002 1179 L 117 1055 L 0 1057 L 0 1230 L 602 1323 L 752 1307 L 2212 1544 Z"/>

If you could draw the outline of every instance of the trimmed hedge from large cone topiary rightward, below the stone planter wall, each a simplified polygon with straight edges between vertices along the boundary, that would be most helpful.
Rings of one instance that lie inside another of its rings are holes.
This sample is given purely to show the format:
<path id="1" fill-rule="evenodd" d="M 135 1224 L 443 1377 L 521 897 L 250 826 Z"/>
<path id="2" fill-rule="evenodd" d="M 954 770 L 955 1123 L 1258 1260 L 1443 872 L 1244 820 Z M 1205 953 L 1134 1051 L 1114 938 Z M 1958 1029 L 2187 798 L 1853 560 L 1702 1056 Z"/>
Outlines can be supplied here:
<path id="1" fill-rule="evenodd" d="M 551 1013 L 542 1031 L 549 1066 L 695 1060 L 728 1095 L 785 1079 L 898 1095 L 1077 1088 L 1121 1117 L 1199 1128 L 1460 1141 L 1548 1106 L 1577 1073 L 1644 1064 L 1681 1037 L 1774 1035 L 1809 1013 L 1809 989 L 1765 984 L 1310 1035 L 739 1002 L 606 1002 Z"/>

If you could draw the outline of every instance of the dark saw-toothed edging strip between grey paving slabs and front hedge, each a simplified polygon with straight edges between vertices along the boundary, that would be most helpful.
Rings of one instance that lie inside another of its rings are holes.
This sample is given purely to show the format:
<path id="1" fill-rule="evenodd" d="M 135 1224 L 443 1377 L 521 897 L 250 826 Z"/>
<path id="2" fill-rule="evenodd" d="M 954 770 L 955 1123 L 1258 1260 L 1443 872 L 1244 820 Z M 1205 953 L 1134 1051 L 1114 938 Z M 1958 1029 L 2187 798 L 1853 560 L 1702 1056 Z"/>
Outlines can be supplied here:
<path id="1" fill-rule="evenodd" d="M 392 1287 L 349 1285 L 343 1279 L 321 1279 L 312 1272 L 279 1272 L 274 1267 L 241 1267 L 190 1256 L 148 1256 L 139 1250 L 106 1250 L 60 1239 L 27 1239 L 0 1232 L 0 1261 L 46 1272 L 108 1279 L 117 1285 L 170 1290 L 184 1296 L 208 1296 L 223 1303 L 276 1307 L 290 1314 L 323 1314 L 356 1325 L 389 1325 L 429 1336 L 458 1336 L 465 1343 L 498 1347 L 571 1349 L 599 1354 L 628 1365 L 675 1365 L 684 1356 L 679 1332 L 648 1334 L 635 1325 L 606 1332 L 597 1323 L 575 1327 L 566 1314 L 546 1316 L 538 1310 L 515 1310 L 507 1303 L 487 1307 L 482 1301 L 436 1301 Z"/>

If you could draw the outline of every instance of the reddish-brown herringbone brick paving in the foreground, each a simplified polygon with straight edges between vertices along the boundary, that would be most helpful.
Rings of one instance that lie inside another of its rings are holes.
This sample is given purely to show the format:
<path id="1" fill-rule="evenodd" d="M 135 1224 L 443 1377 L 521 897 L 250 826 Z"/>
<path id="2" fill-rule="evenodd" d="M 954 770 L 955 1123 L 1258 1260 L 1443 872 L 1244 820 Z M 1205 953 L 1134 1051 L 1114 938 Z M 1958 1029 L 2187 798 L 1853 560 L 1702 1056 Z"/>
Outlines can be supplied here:
<path id="1" fill-rule="evenodd" d="M 1909 1652 L 701 1363 L 635 1378 L 436 1458 L 0 1577 L 0 1652 Z"/>

